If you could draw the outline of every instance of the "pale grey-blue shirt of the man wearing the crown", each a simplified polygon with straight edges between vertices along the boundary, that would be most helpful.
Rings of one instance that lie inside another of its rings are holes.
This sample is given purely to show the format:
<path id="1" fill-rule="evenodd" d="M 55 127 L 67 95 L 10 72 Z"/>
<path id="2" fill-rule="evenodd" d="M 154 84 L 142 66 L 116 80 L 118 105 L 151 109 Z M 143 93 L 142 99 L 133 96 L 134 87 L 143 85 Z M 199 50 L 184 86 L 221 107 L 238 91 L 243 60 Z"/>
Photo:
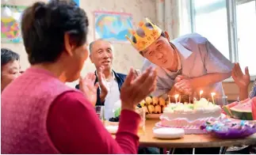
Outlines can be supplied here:
<path id="1" fill-rule="evenodd" d="M 197 33 L 181 36 L 172 40 L 171 43 L 178 49 L 182 74 L 187 77 L 201 77 L 211 73 L 228 73 L 231 72 L 234 66 L 212 43 Z M 174 79 L 178 74 L 158 67 L 144 59 L 142 71 L 148 66 L 157 67 L 158 69 L 157 89 L 153 96 L 164 96 L 166 98 L 166 93 L 173 87 Z M 201 89 L 204 90 L 204 94 L 215 92 L 219 96 L 224 95 L 221 81 Z M 196 90 L 196 92 L 199 91 L 199 89 Z"/>

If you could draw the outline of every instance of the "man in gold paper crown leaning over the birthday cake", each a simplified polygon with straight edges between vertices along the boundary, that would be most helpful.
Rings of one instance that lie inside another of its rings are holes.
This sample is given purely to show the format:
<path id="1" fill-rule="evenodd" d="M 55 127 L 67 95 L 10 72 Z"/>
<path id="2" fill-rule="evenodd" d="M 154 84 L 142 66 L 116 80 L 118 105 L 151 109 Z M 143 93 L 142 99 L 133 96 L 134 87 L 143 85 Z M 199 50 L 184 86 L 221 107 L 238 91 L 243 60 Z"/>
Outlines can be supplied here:
<path id="1" fill-rule="evenodd" d="M 132 38 L 126 38 L 145 58 L 143 70 L 147 66 L 158 67 L 153 96 L 166 98 L 174 89 L 186 95 L 201 89 L 204 94 L 224 95 L 221 81 L 231 77 L 233 64 L 212 43 L 197 33 L 170 41 L 167 32 L 146 20 L 145 24 L 139 22 L 136 31 L 130 31 Z"/>

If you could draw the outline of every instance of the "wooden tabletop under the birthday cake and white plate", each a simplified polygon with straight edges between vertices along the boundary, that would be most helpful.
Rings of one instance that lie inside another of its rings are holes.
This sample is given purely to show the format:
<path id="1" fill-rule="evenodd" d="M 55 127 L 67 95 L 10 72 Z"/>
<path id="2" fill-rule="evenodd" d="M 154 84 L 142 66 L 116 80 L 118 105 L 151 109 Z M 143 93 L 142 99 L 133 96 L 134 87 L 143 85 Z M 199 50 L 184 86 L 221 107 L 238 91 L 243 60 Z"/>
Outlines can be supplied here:
<path id="1" fill-rule="evenodd" d="M 145 133 L 139 133 L 140 146 L 152 146 L 159 148 L 198 148 L 198 147 L 220 147 L 220 146 L 239 146 L 256 145 L 256 134 L 243 139 L 218 139 L 210 134 L 185 134 L 178 139 L 159 139 L 153 136 L 153 127 L 159 119 L 147 119 Z"/>

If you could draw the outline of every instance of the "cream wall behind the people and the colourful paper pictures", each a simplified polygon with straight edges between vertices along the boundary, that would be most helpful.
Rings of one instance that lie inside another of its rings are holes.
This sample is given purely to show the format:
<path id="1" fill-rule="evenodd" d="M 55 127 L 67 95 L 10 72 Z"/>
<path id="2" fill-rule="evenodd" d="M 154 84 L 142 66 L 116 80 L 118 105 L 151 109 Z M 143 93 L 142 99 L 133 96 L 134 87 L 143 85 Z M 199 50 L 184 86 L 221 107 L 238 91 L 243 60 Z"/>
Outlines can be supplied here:
<path id="1" fill-rule="evenodd" d="M 40 1 L 47 2 L 47 0 Z M 7 0 L 5 4 L 29 6 L 32 5 L 33 2 L 36 2 L 36 0 Z M 155 0 L 80 0 L 80 7 L 82 9 L 85 9 L 90 21 L 90 32 L 88 35 L 89 43 L 94 40 L 94 10 L 132 13 L 135 28 L 137 27 L 139 21 L 143 20 L 144 17 L 148 17 L 149 19 L 151 19 L 151 21 L 156 22 Z M 113 62 L 114 70 L 126 74 L 130 66 L 133 66 L 134 68 L 138 69 L 141 68 L 143 58 L 138 54 L 137 51 L 135 51 L 131 44 L 113 44 L 113 46 L 115 48 L 115 59 Z M 27 54 L 25 53 L 25 48 L 22 43 L 1 43 L 1 47 L 10 48 L 21 55 L 22 69 L 27 69 L 29 67 Z M 82 69 L 82 76 L 85 76 L 86 73 L 94 70 L 94 65 L 88 59 L 85 63 L 85 66 Z M 67 85 L 75 86 L 75 84 L 77 84 L 77 81 L 69 83 Z"/>

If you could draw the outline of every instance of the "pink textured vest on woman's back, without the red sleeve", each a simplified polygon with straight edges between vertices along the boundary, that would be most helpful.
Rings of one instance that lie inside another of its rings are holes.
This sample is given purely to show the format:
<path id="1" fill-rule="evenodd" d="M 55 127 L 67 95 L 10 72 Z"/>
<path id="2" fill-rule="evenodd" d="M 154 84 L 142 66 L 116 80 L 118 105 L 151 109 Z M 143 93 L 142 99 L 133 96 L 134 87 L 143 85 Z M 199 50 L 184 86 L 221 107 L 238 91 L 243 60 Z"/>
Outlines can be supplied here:
<path id="1" fill-rule="evenodd" d="M 29 68 L 2 92 L 1 153 L 59 153 L 46 121 L 55 98 L 75 91 L 46 70 Z"/>

